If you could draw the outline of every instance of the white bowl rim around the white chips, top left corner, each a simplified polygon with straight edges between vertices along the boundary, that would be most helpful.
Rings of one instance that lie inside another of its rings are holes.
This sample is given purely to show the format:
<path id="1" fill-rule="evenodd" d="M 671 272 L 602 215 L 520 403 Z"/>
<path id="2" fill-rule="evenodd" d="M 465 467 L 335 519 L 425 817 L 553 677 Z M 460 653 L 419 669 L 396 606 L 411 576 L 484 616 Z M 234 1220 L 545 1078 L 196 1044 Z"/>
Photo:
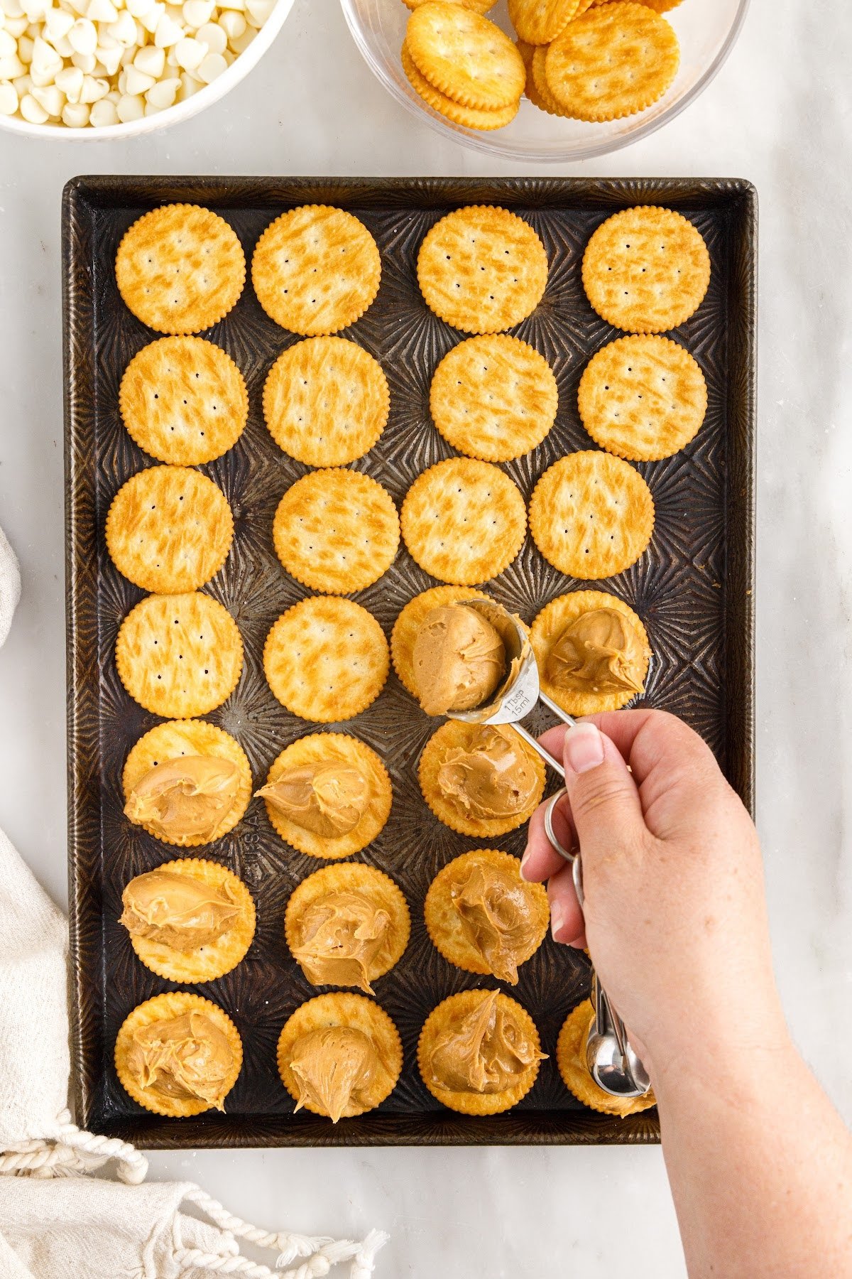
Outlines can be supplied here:
<path id="1" fill-rule="evenodd" d="M 66 124 L 29 124 L 17 115 L 0 115 L 0 129 L 10 133 L 24 133 L 29 138 L 59 138 L 63 142 L 107 142 L 111 138 L 135 138 L 142 133 L 153 133 L 155 129 L 165 129 L 179 120 L 189 120 L 198 115 L 206 106 L 218 102 L 235 84 L 248 75 L 253 67 L 257 67 L 264 52 L 284 27 L 294 0 L 277 0 L 272 13 L 266 19 L 257 36 L 248 49 L 235 58 L 227 70 L 224 70 L 209 84 L 199 88 L 197 93 L 188 97 L 185 102 L 175 102 L 156 115 L 144 115 L 141 120 L 129 120 L 126 124 L 107 124 L 102 129 L 93 129 L 86 125 L 84 129 L 69 129 Z"/>

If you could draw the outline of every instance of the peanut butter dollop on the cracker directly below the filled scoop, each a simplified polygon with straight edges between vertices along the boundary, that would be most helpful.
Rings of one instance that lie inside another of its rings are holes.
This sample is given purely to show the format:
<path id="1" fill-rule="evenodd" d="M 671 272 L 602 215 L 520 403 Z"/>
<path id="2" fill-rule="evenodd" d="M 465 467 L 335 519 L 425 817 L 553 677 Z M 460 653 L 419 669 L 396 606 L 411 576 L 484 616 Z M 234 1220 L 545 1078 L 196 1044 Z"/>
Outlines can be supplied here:
<path id="1" fill-rule="evenodd" d="M 515 817 L 530 806 L 538 775 L 513 729 L 483 724 L 466 747 L 451 747 L 438 766 L 438 789 L 464 816 Z"/>

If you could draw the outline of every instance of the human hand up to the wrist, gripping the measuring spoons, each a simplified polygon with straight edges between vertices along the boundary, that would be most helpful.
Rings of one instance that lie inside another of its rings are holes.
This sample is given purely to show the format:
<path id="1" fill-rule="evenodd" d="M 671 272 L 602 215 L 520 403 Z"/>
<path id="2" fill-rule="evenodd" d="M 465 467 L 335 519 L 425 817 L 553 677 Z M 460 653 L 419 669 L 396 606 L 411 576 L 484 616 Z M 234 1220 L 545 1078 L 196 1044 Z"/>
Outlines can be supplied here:
<path id="1" fill-rule="evenodd" d="M 637 710 L 551 729 L 542 744 L 565 760 L 553 824 L 580 848 L 584 911 L 544 804 L 521 874 L 549 881 L 554 940 L 588 941 L 655 1086 L 669 1064 L 696 1060 L 696 1045 L 729 1056 L 732 1042 L 784 1041 L 757 834 L 704 741 Z"/>

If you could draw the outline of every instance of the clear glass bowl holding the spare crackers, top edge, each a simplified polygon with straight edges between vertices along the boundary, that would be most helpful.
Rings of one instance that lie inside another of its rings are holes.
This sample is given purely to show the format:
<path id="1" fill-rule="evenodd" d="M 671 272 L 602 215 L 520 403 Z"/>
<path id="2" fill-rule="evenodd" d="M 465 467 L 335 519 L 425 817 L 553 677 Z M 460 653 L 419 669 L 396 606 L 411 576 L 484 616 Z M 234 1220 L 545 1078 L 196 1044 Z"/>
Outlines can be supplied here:
<path id="1" fill-rule="evenodd" d="M 588 124 L 540 111 L 526 98 L 511 124 L 478 133 L 445 119 L 411 88 L 402 70 L 400 49 L 409 10 L 402 0 L 341 0 L 355 43 L 373 74 L 409 111 L 427 120 L 438 133 L 485 155 L 505 160 L 566 162 L 617 151 L 646 137 L 690 105 L 710 83 L 740 35 L 749 0 L 683 0 L 666 14 L 681 43 L 681 65 L 667 93 L 636 115 L 623 120 Z M 499 0 L 487 14 L 513 38 Z"/>

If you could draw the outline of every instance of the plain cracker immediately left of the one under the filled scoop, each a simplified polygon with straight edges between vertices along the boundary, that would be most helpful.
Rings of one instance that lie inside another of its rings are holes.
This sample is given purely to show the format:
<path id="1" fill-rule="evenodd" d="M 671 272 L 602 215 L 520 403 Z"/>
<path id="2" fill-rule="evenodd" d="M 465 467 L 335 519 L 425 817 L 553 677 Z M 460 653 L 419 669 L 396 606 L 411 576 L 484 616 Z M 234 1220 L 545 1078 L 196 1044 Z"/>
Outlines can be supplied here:
<path id="1" fill-rule="evenodd" d="M 372 613 L 353 600 L 300 600 L 273 624 L 263 670 L 281 705 L 319 724 L 353 719 L 384 687 L 390 655 Z"/>

